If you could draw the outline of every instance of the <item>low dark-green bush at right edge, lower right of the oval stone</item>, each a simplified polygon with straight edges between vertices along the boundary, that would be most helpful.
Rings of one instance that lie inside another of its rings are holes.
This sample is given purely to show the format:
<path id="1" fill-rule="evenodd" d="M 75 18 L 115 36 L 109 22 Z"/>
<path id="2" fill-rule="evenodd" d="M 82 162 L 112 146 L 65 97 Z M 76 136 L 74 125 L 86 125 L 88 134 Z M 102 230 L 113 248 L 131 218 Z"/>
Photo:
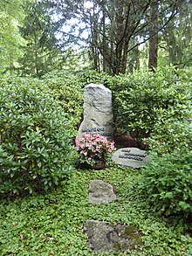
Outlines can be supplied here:
<path id="1" fill-rule="evenodd" d="M 143 170 L 140 188 L 157 211 L 188 218 L 192 214 L 192 151 L 154 156 Z"/>

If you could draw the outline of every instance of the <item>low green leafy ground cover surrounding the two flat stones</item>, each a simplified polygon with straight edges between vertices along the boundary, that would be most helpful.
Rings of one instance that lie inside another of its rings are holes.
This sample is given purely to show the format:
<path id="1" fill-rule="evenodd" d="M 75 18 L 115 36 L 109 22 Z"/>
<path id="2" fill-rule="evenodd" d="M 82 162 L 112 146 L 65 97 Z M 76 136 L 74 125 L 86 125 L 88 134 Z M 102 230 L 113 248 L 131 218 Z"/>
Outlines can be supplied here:
<path id="1" fill-rule="evenodd" d="M 138 196 L 142 170 L 109 165 L 106 170 L 75 170 L 68 181 L 45 195 L 3 199 L 0 204 L 0 255 L 92 255 L 84 232 L 86 219 L 135 225 L 143 234 L 140 252 L 95 255 L 192 255 L 190 225 L 163 218 Z M 88 202 L 93 179 L 112 183 L 118 200 Z"/>

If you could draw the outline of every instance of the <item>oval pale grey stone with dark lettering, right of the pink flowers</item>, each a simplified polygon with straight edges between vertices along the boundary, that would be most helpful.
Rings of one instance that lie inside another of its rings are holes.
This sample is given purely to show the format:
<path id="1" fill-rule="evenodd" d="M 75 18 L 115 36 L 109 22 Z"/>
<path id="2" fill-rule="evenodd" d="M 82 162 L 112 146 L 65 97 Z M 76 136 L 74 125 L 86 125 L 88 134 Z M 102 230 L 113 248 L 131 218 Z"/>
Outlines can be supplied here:
<path id="1" fill-rule="evenodd" d="M 146 151 L 137 148 L 118 149 L 113 153 L 112 160 L 116 164 L 131 168 L 141 168 L 151 160 Z"/>

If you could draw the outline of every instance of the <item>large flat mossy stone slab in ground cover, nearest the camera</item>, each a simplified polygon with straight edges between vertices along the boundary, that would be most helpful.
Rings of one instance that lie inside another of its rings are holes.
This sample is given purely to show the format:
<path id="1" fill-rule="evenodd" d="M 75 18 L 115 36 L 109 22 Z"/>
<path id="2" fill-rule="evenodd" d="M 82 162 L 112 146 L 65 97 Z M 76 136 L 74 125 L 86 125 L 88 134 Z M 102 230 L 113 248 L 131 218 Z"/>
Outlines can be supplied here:
<path id="1" fill-rule="evenodd" d="M 85 224 L 89 246 L 95 252 L 125 252 L 139 250 L 141 232 L 133 225 L 111 225 L 108 222 L 88 219 Z"/>

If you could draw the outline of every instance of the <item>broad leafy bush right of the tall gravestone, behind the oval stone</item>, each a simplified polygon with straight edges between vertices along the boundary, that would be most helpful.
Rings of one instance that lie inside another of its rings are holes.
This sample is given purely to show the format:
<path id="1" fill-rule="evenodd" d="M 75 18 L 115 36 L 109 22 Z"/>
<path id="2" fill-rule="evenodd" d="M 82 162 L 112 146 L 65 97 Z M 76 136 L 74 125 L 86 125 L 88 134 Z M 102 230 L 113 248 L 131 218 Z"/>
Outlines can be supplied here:
<path id="1" fill-rule="evenodd" d="M 154 126 L 167 121 L 185 121 L 191 112 L 191 81 L 173 67 L 156 73 L 137 72 L 108 80 L 113 90 L 116 128 L 121 128 L 140 142 L 153 132 Z M 166 133 L 166 130 L 165 130 Z"/>

